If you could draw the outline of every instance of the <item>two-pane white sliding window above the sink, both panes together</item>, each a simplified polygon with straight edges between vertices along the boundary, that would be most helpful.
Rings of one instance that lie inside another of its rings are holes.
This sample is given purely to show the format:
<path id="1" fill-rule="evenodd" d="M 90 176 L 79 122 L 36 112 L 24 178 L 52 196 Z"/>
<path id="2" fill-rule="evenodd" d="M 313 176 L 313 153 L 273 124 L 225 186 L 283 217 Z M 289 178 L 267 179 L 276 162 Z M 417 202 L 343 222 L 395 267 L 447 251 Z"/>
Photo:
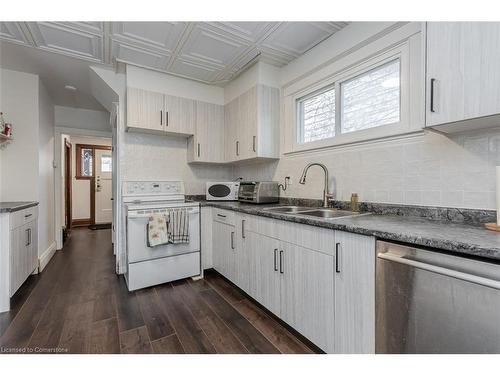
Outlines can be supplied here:
<path id="1" fill-rule="evenodd" d="M 325 144 L 351 133 L 401 123 L 402 58 L 338 74 L 335 81 L 296 99 L 297 143 Z M 359 135 L 356 138 L 360 138 Z"/>

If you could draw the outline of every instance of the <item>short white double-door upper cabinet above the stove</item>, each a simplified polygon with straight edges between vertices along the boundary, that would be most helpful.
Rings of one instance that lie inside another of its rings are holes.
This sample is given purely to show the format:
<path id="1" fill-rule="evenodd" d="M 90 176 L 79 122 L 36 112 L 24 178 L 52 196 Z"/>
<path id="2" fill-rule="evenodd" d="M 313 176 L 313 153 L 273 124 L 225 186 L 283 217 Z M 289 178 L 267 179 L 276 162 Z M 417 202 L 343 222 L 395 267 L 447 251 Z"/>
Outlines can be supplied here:
<path id="1" fill-rule="evenodd" d="M 127 88 L 127 130 L 189 136 L 194 134 L 196 102 Z"/>

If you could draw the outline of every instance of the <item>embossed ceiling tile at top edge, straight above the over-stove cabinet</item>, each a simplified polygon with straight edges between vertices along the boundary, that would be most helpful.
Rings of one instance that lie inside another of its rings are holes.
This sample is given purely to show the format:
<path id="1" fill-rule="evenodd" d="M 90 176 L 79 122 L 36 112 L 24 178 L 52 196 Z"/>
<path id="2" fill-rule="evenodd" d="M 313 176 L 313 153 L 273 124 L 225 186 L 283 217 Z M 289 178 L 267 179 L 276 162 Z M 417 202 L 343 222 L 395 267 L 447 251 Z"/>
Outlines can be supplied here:
<path id="1" fill-rule="evenodd" d="M 112 38 L 143 48 L 172 53 L 187 22 L 114 22 Z"/>

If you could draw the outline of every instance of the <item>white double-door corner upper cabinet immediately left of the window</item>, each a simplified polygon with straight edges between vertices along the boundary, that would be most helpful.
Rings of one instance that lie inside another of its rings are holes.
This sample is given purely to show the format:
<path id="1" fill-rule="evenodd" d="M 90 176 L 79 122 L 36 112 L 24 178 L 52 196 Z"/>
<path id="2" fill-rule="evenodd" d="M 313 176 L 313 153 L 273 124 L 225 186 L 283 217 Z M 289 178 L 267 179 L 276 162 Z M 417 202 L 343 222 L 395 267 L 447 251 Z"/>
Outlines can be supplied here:
<path id="1" fill-rule="evenodd" d="M 279 158 L 279 89 L 256 85 L 224 110 L 227 161 Z"/>

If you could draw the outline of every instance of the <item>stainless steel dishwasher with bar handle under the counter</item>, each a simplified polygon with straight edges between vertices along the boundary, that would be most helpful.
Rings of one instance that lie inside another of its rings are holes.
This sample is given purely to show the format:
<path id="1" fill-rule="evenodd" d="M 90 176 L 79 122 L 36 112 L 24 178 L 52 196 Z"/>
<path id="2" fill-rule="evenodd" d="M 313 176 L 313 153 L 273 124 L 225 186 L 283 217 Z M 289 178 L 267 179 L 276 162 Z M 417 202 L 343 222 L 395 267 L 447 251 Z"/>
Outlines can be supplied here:
<path id="1" fill-rule="evenodd" d="M 377 241 L 377 353 L 500 353 L 500 262 Z"/>

